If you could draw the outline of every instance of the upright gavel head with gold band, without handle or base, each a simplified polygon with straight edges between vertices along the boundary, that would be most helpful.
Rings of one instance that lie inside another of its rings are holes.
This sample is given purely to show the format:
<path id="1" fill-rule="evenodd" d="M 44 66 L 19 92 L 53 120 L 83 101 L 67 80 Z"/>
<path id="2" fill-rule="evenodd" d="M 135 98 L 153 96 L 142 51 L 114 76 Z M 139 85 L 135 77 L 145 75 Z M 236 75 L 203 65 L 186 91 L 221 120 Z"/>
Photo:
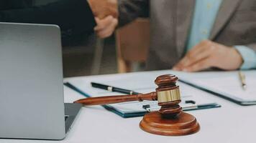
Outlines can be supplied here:
<path id="1" fill-rule="evenodd" d="M 182 108 L 179 105 L 181 99 L 179 86 L 176 85 L 177 81 L 178 77 L 172 74 L 165 74 L 155 79 L 155 84 L 158 86 L 155 89 L 157 101 L 161 107 L 159 112 L 165 118 L 177 117 L 182 112 Z"/>

